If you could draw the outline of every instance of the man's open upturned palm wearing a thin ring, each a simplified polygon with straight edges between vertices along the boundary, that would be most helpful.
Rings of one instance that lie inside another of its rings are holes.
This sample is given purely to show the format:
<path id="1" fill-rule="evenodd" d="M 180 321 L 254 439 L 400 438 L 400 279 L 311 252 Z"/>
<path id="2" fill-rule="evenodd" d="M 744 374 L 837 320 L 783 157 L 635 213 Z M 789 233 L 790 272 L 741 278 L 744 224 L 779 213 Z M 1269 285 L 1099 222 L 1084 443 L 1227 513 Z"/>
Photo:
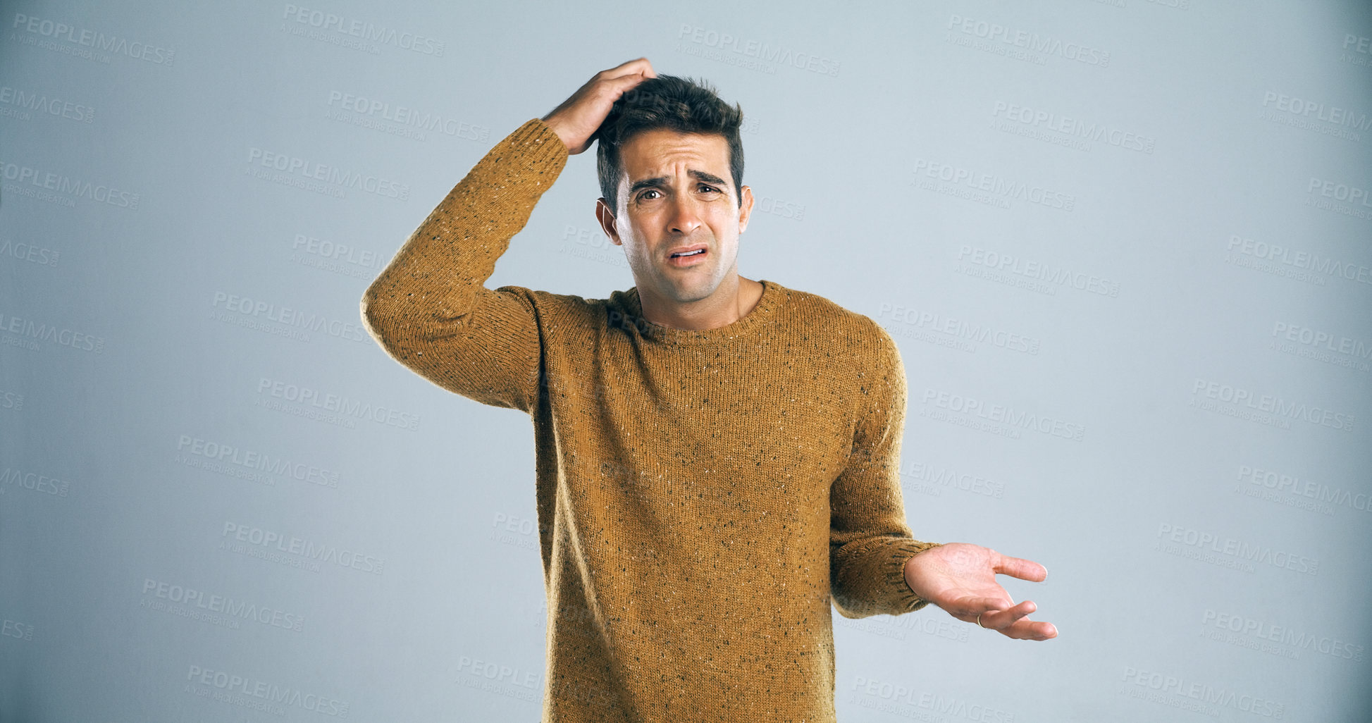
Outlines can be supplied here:
<path id="1" fill-rule="evenodd" d="M 1021 641 L 1058 637 L 1052 623 L 1029 620 L 1037 605 L 1015 604 L 996 583 L 996 575 L 1043 582 L 1048 569 L 1030 560 L 1003 556 L 989 547 L 949 542 L 929 547 L 906 562 L 906 583 L 923 600 L 967 623 L 995 630 Z"/>

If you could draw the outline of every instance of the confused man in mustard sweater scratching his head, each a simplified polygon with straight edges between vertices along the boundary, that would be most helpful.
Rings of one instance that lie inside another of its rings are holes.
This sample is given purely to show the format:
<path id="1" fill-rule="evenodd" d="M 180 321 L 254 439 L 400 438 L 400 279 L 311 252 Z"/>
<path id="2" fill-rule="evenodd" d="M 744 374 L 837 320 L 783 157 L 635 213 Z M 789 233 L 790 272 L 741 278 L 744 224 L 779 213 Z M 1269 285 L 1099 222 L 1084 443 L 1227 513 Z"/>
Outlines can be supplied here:
<path id="1" fill-rule="evenodd" d="M 639 58 L 498 143 L 366 289 L 386 351 L 534 420 L 549 602 L 545 722 L 834 720 L 830 602 L 933 602 L 1018 639 L 996 573 L 912 539 L 906 377 L 890 336 L 738 276 L 753 196 L 741 110 Z M 635 285 L 608 299 L 483 284 L 569 154 L 598 140 L 595 215 Z"/>

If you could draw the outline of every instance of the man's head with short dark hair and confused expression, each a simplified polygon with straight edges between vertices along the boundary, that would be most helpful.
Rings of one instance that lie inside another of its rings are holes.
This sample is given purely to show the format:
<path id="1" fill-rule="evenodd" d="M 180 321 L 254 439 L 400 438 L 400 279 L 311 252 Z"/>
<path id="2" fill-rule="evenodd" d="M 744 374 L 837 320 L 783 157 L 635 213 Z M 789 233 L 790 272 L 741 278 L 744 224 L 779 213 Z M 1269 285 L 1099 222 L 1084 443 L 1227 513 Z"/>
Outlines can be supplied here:
<path id="1" fill-rule="evenodd" d="M 624 246 L 641 296 L 685 305 L 726 280 L 737 289 L 730 277 L 752 211 L 742 117 L 708 85 L 659 75 L 624 92 L 595 132 L 597 217 Z M 704 254 L 672 255 L 696 246 Z"/>

